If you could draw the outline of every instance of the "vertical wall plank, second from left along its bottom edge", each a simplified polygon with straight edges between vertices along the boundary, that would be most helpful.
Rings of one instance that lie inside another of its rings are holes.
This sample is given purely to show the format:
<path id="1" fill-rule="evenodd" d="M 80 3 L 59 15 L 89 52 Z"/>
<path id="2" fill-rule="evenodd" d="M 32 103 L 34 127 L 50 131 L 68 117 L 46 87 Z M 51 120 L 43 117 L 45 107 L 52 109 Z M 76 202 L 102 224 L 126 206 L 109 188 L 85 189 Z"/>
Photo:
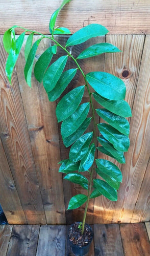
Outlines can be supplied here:
<path id="1" fill-rule="evenodd" d="M 0 41 L 0 136 L 28 223 L 46 223 L 31 142 L 15 73 L 12 87 L 5 75 L 7 54 Z"/>

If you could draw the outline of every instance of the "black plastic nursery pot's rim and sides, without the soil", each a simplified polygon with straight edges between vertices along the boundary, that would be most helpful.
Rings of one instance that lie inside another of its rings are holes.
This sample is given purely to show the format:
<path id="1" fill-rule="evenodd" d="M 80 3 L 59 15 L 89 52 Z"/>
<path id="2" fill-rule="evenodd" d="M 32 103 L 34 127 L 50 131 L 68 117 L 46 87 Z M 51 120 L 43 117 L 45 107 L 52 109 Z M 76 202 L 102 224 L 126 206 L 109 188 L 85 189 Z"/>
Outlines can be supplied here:
<path id="1" fill-rule="evenodd" d="M 80 222 L 78 222 L 78 223 L 80 224 Z M 93 230 L 92 230 L 91 226 L 88 225 L 88 224 L 85 224 L 85 225 L 87 225 L 87 226 L 90 228 L 90 231 L 91 231 L 91 234 L 92 234 L 91 240 L 89 241 L 88 244 L 86 244 L 85 246 L 82 246 L 82 247 L 81 247 L 81 246 L 79 246 L 79 245 L 73 244 L 73 243 L 69 240 L 69 245 L 70 245 L 70 247 L 71 247 L 71 249 L 72 249 L 72 252 L 73 252 L 75 255 L 78 255 L 78 256 L 83 256 L 83 255 L 85 255 L 85 254 L 88 253 L 88 251 L 89 251 L 89 249 L 90 249 L 90 244 L 91 244 L 91 242 L 92 242 L 92 240 L 93 240 Z M 72 224 L 71 226 L 73 226 L 73 224 Z M 70 228 L 71 228 L 71 226 L 70 226 Z"/>

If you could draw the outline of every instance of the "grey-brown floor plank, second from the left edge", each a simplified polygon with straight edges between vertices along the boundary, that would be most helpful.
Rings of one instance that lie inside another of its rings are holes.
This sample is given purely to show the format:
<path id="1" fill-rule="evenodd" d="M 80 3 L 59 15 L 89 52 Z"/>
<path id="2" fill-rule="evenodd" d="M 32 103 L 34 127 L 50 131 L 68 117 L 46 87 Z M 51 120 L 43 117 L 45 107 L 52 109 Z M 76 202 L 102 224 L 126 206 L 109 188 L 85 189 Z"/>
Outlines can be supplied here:
<path id="1" fill-rule="evenodd" d="M 7 256 L 36 255 L 39 225 L 14 225 Z"/>

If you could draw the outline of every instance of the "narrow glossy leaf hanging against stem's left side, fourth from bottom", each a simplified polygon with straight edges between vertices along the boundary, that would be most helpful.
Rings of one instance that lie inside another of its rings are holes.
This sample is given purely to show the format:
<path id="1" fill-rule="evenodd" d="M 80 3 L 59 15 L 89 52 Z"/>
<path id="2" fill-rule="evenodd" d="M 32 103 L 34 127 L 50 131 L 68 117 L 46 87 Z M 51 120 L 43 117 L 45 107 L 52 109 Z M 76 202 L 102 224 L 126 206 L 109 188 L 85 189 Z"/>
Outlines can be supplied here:
<path id="1" fill-rule="evenodd" d="M 94 155 L 95 155 L 95 144 L 92 143 L 89 147 L 87 154 L 82 158 L 80 162 L 79 172 L 85 172 L 89 170 L 94 162 Z"/>

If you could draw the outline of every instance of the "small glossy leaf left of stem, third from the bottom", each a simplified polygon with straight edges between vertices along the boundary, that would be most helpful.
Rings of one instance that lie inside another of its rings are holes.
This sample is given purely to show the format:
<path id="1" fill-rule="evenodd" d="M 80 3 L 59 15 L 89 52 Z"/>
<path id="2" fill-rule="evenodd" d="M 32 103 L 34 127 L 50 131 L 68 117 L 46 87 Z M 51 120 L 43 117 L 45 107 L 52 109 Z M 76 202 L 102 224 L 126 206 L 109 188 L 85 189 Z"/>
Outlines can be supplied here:
<path id="1" fill-rule="evenodd" d="M 74 163 L 69 159 L 62 160 L 59 168 L 59 173 L 71 173 L 74 170 L 79 170 L 80 162 Z"/>

